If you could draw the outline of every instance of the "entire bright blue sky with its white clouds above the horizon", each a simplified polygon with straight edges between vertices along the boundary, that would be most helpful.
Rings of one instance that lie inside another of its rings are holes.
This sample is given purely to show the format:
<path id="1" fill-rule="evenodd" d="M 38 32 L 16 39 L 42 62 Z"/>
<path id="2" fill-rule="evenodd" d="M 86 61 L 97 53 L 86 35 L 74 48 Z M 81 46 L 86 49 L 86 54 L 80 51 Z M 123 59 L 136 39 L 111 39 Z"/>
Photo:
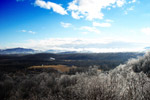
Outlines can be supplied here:
<path id="1" fill-rule="evenodd" d="M 150 46 L 149 0 L 1 0 L 0 48 L 93 52 Z"/>

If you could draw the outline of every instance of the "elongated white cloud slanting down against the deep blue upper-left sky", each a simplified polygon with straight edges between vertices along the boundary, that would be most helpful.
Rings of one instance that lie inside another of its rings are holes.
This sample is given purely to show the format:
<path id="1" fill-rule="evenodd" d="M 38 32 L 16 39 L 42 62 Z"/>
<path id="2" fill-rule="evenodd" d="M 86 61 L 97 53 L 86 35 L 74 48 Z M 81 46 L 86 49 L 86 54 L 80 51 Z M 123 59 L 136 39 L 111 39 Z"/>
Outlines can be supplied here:
<path id="1" fill-rule="evenodd" d="M 41 8 L 45 9 L 53 9 L 54 12 L 65 15 L 67 14 L 67 11 L 59 4 L 53 3 L 53 2 L 45 2 L 43 0 L 36 0 L 35 1 L 36 6 L 40 6 Z"/>

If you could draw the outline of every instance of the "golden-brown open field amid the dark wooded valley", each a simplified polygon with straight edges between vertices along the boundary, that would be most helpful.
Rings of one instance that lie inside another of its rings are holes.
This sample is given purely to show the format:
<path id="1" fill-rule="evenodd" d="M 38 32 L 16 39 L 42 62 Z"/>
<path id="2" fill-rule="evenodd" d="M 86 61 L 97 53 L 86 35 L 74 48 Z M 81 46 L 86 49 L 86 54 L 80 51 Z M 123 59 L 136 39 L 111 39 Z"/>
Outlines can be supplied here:
<path id="1" fill-rule="evenodd" d="M 38 69 L 38 68 L 54 68 L 54 69 L 61 71 L 61 72 L 67 72 L 72 68 L 76 68 L 76 66 L 69 67 L 66 65 L 43 65 L 43 66 L 31 66 L 31 67 L 29 67 L 29 69 Z"/>

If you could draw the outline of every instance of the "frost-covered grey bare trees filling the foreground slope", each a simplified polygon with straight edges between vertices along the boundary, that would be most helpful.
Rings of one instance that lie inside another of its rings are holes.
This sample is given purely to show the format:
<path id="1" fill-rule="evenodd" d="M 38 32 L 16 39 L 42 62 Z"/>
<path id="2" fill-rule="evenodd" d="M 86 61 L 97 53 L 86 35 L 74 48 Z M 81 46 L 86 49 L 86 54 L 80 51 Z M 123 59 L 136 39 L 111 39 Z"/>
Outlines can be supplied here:
<path id="1" fill-rule="evenodd" d="M 149 63 L 147 53 L 106 72 L 95 66 L 72 75 L 52 69 L 3 74 L 0 99 L 150 100 Z"/>

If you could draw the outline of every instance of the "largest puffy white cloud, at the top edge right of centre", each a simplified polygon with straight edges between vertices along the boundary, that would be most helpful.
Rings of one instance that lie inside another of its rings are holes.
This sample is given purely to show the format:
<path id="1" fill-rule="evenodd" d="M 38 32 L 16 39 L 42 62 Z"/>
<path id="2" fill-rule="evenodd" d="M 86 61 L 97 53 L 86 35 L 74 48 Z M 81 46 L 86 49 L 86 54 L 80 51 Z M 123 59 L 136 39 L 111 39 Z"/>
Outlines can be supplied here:
<path id="1" fill-rule="evenodd" d="M 69 3 L 68 10 L 75 19 L 103 19 L 102 9 L 122 7 L 124 4 L 126 0 L 73 0 Z"/>

